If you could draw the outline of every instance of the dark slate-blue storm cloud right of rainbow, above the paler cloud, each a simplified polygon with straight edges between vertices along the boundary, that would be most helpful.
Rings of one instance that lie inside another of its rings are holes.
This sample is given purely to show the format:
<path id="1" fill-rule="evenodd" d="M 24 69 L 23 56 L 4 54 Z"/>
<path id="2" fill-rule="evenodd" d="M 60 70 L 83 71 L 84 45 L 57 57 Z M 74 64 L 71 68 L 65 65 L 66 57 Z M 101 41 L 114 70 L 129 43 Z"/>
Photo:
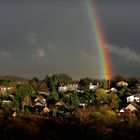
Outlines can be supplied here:
<path id="1" fill-rule="evenodd" d="M 110 1 L 98 2 L 101 19 L 104 23 L 109 43 L 128 45 L 138 49 L 140 1 Z"/>

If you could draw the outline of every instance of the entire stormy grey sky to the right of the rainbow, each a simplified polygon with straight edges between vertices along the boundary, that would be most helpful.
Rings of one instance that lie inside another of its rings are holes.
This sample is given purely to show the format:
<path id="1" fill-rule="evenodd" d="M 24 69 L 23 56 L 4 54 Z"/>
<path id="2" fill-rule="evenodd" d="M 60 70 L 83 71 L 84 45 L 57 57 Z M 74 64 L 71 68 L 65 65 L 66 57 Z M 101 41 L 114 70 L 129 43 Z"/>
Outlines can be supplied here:
<path id="1" fill-rule="evenodd" d="M 97 2 L 108 43 L 114 74 L 140 76 L 140 1 Z"/>

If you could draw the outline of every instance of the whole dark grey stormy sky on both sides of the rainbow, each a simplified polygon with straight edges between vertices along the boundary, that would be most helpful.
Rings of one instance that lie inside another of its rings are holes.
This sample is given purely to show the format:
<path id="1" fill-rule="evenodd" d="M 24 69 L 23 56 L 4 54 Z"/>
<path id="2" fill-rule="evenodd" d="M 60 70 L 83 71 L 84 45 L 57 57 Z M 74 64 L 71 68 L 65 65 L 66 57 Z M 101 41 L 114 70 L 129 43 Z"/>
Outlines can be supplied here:
<path id="1" fill-rule="evenodd" d="M 140 1 L 95 0 L 113 75 L 140 77 Z M 0 0 L 0 75 L 99 78 L 83 0 Z"/>

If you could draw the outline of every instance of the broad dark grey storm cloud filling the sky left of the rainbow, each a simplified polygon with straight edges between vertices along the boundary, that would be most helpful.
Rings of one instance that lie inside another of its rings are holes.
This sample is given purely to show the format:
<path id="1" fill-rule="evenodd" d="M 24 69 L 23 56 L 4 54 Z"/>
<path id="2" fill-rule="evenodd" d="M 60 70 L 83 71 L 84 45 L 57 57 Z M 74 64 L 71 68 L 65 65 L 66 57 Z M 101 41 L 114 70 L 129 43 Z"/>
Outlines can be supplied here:
<path id="1" fill-rule="evenodd" d="M 89 45 L 84 38 L 89 35 L 83 28 L 86 23 L 77 4 L 75 1 L 2 2 L 0 48 L 3 52 L 8 50 L 13 58 L 9 60 L 12 65 L 2 65 L 1 73 L 42 76 L 53 71 L 72 73 L 74 67 L 83 67 L 75 51 L 87 51 Z M 10 69 L 4 71 L 7 67 Z"/>

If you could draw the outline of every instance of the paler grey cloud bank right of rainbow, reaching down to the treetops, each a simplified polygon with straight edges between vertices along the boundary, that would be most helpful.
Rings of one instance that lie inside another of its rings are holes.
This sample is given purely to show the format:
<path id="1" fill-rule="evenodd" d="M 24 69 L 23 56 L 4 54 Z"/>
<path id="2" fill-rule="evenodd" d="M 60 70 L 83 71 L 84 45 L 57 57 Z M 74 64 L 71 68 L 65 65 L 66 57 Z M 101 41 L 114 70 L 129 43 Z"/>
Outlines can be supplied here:
<path id="1" fill-rule="evenodd" d="M 139 76 L 140 54 L 127 46 L 109 45 L 113 75 Z"/>

